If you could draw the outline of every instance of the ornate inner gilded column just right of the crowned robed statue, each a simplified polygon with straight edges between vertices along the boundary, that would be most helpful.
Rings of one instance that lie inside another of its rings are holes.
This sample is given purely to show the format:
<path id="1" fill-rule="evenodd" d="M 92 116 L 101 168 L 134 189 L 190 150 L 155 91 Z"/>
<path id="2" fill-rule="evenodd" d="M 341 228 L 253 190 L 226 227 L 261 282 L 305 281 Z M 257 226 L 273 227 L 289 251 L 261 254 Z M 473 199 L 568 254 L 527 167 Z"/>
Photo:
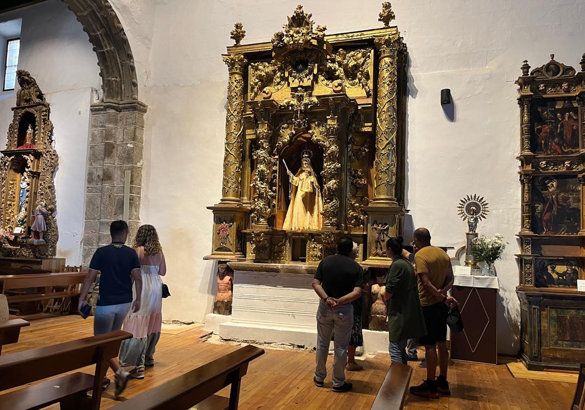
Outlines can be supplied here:
<path id="1" fill-rule="evenodd" d="M 323 225 L 337 229 L 339 224 L 339 124 L 328 120 L 325 126 L 328 144 L 324 152 L 323 164 Z"/>

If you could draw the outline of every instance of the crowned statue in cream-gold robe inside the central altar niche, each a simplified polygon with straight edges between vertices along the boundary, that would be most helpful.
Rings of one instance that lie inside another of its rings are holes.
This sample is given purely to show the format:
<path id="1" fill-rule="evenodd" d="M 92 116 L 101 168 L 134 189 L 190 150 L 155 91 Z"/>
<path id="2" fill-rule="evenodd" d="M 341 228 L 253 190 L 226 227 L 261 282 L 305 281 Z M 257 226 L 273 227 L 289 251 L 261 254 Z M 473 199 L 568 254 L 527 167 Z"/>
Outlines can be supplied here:
<path id="1" fill-rule="evenodd" d="M 283 229 L 287 231 L 320 230 L 323 227 L 321 189 L 311 166 L 312 152 L 302 151 L 301 168 L 297 175 L 287 169 L 292 184 L 291 202 Z"/>

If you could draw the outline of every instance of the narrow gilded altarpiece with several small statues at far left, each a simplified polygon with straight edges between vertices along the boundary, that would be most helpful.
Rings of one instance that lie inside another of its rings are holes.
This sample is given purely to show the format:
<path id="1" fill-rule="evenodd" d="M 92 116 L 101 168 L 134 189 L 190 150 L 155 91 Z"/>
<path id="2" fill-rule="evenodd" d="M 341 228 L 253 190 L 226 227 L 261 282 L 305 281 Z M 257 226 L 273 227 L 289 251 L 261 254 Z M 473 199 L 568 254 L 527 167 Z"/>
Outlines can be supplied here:
<path id="1" fill-rule="evenodd" d="M 9 247 L 13 257 L 54 257 L 59 230 L 57 228 L 56 195 L 53 173 L 59 157 L 52 145 L 53 124 L 49 119 L 49 103 L 30 73 L 16 72 L 20 89 L 8 128 L 6 149 L 0 158 L 0 196 L 2 228 L 14 233 Z M 30 227 L 35 210 L 44 204 L 46 214 L 42 244 L 29 245 Z"/>

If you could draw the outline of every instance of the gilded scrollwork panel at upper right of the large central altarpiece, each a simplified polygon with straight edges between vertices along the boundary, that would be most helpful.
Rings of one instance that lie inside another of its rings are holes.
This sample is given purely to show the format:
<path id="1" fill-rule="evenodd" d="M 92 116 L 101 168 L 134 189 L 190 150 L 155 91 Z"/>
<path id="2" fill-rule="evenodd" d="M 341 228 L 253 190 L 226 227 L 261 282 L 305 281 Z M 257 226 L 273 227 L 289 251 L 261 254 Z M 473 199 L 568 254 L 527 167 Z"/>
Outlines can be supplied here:
<path id="1" fill-rule="evenodd" d="M 326 87 L 339 91 L 341 90 L 339 86 L 361 87 L 367 97 L 370 97 L 370 62 L 371 49 L 357 49 L 351 52 L 339 49 L 321 66 L 319 80 Z"/>

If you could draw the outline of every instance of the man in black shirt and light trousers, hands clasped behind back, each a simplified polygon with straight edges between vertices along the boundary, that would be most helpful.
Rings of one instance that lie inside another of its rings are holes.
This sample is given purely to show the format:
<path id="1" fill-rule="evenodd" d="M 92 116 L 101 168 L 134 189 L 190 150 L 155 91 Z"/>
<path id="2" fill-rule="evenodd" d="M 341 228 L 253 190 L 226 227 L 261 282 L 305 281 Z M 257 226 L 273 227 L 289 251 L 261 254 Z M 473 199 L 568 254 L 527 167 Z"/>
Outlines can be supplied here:
<path id="1" fill-rule="evenodd" d="M 352 252 L 351 238 L 340 238 L 337 254 L 321 261 L 315 272 L 312 286 L 321 300 L 317 310 L 316 368 L 313 381 L 323 387 L 327 375 L 327 355 L 331 333 L 335 329 L 335 355 L 333 356 L 333 391 L 352 389 L 345 381 L 347 344 L 353 327 L 352 301 L 362 295 L 366 283 L 362 267 L 349 255 Z"/>

